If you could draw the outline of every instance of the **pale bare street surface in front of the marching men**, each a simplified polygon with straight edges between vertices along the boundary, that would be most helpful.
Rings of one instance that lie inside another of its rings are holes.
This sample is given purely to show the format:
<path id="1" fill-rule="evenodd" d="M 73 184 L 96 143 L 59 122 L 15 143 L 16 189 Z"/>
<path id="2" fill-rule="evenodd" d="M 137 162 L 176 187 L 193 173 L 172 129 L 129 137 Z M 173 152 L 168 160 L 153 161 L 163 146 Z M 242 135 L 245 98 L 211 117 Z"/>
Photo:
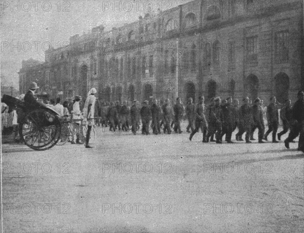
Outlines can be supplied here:
<path id="1" fill-rule="evenodd" d="M 94 149 L 3 145 L 4 232 L 303 231 L 296 144 L 97 134 Z"/>

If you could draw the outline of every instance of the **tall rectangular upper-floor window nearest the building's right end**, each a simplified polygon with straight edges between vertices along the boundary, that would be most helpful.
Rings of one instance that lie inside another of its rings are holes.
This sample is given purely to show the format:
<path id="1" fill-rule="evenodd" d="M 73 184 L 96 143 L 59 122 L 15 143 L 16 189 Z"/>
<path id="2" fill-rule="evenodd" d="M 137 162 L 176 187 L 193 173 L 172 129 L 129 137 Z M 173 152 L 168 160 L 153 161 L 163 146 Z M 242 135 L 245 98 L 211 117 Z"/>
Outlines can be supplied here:
<path id="1" fill-rule="evenodd" d="M 277 64 L 289 61 L 288 40 L 288 30 L 277 32 L 275 35 L 275 62 Z"/>

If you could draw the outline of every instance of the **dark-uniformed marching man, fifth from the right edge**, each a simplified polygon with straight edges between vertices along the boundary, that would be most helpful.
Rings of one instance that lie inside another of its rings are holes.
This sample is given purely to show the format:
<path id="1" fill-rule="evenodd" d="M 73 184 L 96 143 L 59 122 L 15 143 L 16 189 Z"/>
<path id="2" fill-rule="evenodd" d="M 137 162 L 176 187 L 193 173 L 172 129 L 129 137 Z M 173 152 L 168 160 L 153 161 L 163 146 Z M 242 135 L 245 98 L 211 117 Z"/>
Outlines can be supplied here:
<path id="1" fill-rule="evenodd" d="M 246 131 L 245 140 L 246 143 L 250 142 L 250 133 L 251 133 L 251 127 L 252 127 L 252 112 L 251 112 L 251 106 L 249 104 L 249 98 L 245 97 L 243 99 L 244 104 L 240 108 L 240 129 L 237 133 L 237 138 L 242 138 L 243 133 Z"/>

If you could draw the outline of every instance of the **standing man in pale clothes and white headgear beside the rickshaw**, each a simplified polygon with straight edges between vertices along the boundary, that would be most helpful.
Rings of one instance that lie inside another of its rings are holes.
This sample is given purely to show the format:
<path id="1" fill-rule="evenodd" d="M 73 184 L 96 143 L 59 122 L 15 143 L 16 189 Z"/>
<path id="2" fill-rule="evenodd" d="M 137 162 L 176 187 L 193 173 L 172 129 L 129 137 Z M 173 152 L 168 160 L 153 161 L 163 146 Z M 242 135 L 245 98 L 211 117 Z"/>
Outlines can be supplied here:
<path id="1" fill-rule="evenodd" d="M 86 143 L 85 147 L 86 148 L 93 148 L 89 146 L 89 141 L 90 141 L 90 134 L 92 130 L 92 126 L 94 125 L 94 108 L 95 108 L 95 102 L 96 102 L 96 97 L 94 96 L 96 94 L 97 90 L 93 87 L 88 93 L 88 98 L 85 103 L 84 107 L 84 114 L 85 117 L 87 118 L 87 123 L 88 123 L 88 130 L 87 130 L 87 135 L 86 135 Z"/>

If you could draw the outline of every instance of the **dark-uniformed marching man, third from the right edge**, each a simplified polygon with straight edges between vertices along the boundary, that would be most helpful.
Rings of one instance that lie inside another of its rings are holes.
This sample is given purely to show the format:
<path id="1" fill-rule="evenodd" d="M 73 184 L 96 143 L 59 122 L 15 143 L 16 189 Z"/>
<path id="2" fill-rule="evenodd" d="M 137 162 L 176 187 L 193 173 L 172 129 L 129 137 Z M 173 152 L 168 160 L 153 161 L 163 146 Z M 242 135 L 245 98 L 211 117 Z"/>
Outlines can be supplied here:
<path id="1" fill-rule="evenodd" d="M 273 132 L 273 143 L 278 143 L 276 140 L 278 125 L 279 125 L 279 111 L 278 105 L 276 104 L 277 99 L 275 96 L 270 98 L 271 104 L 267 107 L 267 121 L 268 121 L 268 130 L 264 135 L 264 140 L 268 141 L 268 135 Z"/>

